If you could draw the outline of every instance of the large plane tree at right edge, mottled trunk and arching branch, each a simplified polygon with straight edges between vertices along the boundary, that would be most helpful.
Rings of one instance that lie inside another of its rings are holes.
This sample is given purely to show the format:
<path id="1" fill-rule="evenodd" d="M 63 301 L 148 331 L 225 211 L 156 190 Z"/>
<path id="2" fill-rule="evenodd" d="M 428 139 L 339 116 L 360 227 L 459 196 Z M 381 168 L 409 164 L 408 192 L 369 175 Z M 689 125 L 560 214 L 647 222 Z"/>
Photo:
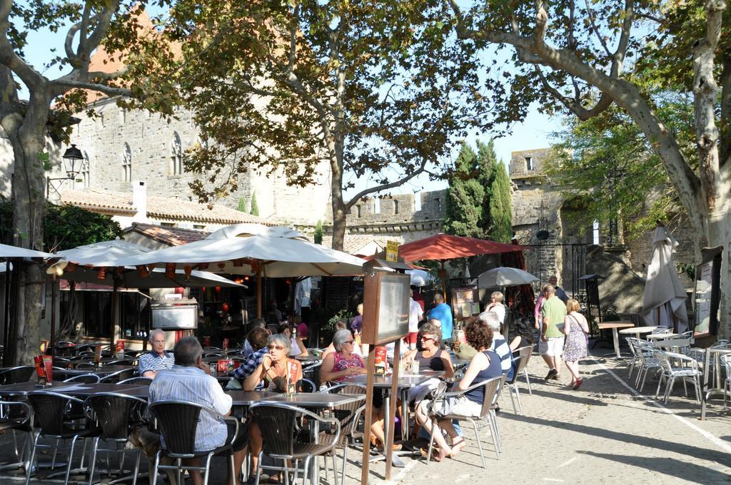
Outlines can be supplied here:
<path id="1" fill-rule="evenodd" d="M 697 231 L 696 250 L 731 240 L 731 13 L 724 0 L 448 0 L 460 39 L 481 50 L 514 50 L 506 121 L 537 102 L 588 120 L 613 104 L 637 125 Z M 629 71 L 626 69 L 629 68 Z M 507 72 L 504 70 L 503 72 Z M 638 79 L 682 86 L 692 97 L 698 166 Z M 716 78 L 721 80 L 720 86 Z M 731 266 L 721 267 L 721 335 L 731 332 Z"/>

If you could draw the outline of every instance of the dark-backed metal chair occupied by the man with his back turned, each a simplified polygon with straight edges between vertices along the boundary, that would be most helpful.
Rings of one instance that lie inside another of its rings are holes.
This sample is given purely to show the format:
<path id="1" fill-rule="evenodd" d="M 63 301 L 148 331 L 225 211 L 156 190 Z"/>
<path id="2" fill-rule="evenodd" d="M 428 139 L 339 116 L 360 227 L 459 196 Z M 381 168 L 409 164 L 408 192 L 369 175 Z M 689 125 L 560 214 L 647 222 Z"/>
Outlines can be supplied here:
<path id="1" fill-rule="evenodd" d="M 199 470 L 204 472 L 203 484 L 208 484 L 208 471 L 211 467 L 211 458 L 214 455 L 228 454 L 230 476 L 234 476 L 233 448 L 231 443 L 207 451 L 195 451 L 195 434 L 198 427 L 198 416 L 201 412 L 213 414 L 216 419 L 224 419 L 235 423 L 236 432 L 232 441 L 238 435 L 238 420 L 224 417 L 215 409 L 200 405 L 197 402 L 164 400 L 153 402 L 148 406 L 151 416 L 157 420 L 166 448 L 160 448 L 155 455 L 155 465 L 152 471 L 152 485 L 157 483 L 158 470 L 176 470 L 176 483 L 182 484 L 183 470 Z M 160 457 L 175 459 L 174 465 L 160 465 Z M 187 458 L 205 457 L 205 467 L 183 465 L 182 460 Z"/>

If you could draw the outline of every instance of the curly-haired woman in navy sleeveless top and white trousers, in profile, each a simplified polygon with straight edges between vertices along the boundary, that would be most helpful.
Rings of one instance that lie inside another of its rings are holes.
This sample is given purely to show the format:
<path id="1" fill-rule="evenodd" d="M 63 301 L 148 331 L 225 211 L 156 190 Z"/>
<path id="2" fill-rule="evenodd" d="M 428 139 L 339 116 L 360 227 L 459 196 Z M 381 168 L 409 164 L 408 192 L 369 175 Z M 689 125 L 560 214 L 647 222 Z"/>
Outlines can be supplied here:
<path id="1" fill-rule="evenodd" d="M 489 326 L 483 325 L 479 318 L 472 317 L 469 319 L 465 334 L 467 343 L 477 349 L 477 354 L 474 354 L 474 357 L 469 362 L 469 367 L 467 367 L 461 381 L 455 383 L 455 386 L 452 388 L 454 391 L 463 391 L 473 383 L 487 381 L 488 379 L 502 375 L 499 356 L 494 351 L 489 350 L 493 343 L 493 330 Z M 439 446 L 439 451 L 435 451 L 433 456 L 434 461 L 441 462 L 444 457 L 455 457 L 466 443 L 464 438 L 458 438 L 458 434 L 452 426 L 450 419 L 440 419 L 440 429 L 432 429 L 429 414 L 433 412 L 438 416 L 461 414 L 463 416 L 477 417 L 480 416 L 482 402 L 484 400 L 485 389 L 479 386 L 459 397 L 449 397 L 447 400 L 422 401 L 417 406 L 417 422 L 431 433 L 434 441 Z M 447 441 L 444 440 L 444 436 L 442 436 L 442 429 L 452 438 L 451 448 L 447 445 Z M 422 450 L 422 454 L 425 456 L 426 451 Z"/>

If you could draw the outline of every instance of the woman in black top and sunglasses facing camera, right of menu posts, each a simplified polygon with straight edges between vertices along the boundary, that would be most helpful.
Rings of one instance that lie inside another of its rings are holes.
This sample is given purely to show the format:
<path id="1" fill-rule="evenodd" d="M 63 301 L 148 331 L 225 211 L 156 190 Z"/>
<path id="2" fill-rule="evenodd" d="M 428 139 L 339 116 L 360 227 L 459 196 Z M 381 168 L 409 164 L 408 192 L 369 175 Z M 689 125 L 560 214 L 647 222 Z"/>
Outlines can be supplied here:
<path id="1" fill-rule="evenodd" d="M 442 350 L 442 330 L 431 323 L 423 324 L 419 329 L 421 340 L 420 351 L 409 351 L 404 356 L 406 362 L 419 362 L 420 370 L 444 370 L 444 378 L 451 379 L 455 375 L 449 352 Z M 439 379 L 429 379 L 419 386 L 409 389 L 409 402 L 423 400 L 429 391 L 439 386 Z"/>

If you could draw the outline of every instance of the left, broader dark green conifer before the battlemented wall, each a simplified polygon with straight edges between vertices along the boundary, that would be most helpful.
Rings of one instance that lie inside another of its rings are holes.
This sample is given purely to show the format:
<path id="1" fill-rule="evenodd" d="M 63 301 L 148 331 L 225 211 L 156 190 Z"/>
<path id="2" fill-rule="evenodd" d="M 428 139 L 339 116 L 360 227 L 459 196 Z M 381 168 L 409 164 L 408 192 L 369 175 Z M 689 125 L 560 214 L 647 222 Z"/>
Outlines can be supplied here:
<path id="1" fill-rule="evenodd" d="M 477 154 L 467 142 L 462 142 L 454 170 L 450 174 L 444 232 L 465 237 L 487 236 L 483 209 L 485 186 L 480 183 L 481 175 Z"/>

